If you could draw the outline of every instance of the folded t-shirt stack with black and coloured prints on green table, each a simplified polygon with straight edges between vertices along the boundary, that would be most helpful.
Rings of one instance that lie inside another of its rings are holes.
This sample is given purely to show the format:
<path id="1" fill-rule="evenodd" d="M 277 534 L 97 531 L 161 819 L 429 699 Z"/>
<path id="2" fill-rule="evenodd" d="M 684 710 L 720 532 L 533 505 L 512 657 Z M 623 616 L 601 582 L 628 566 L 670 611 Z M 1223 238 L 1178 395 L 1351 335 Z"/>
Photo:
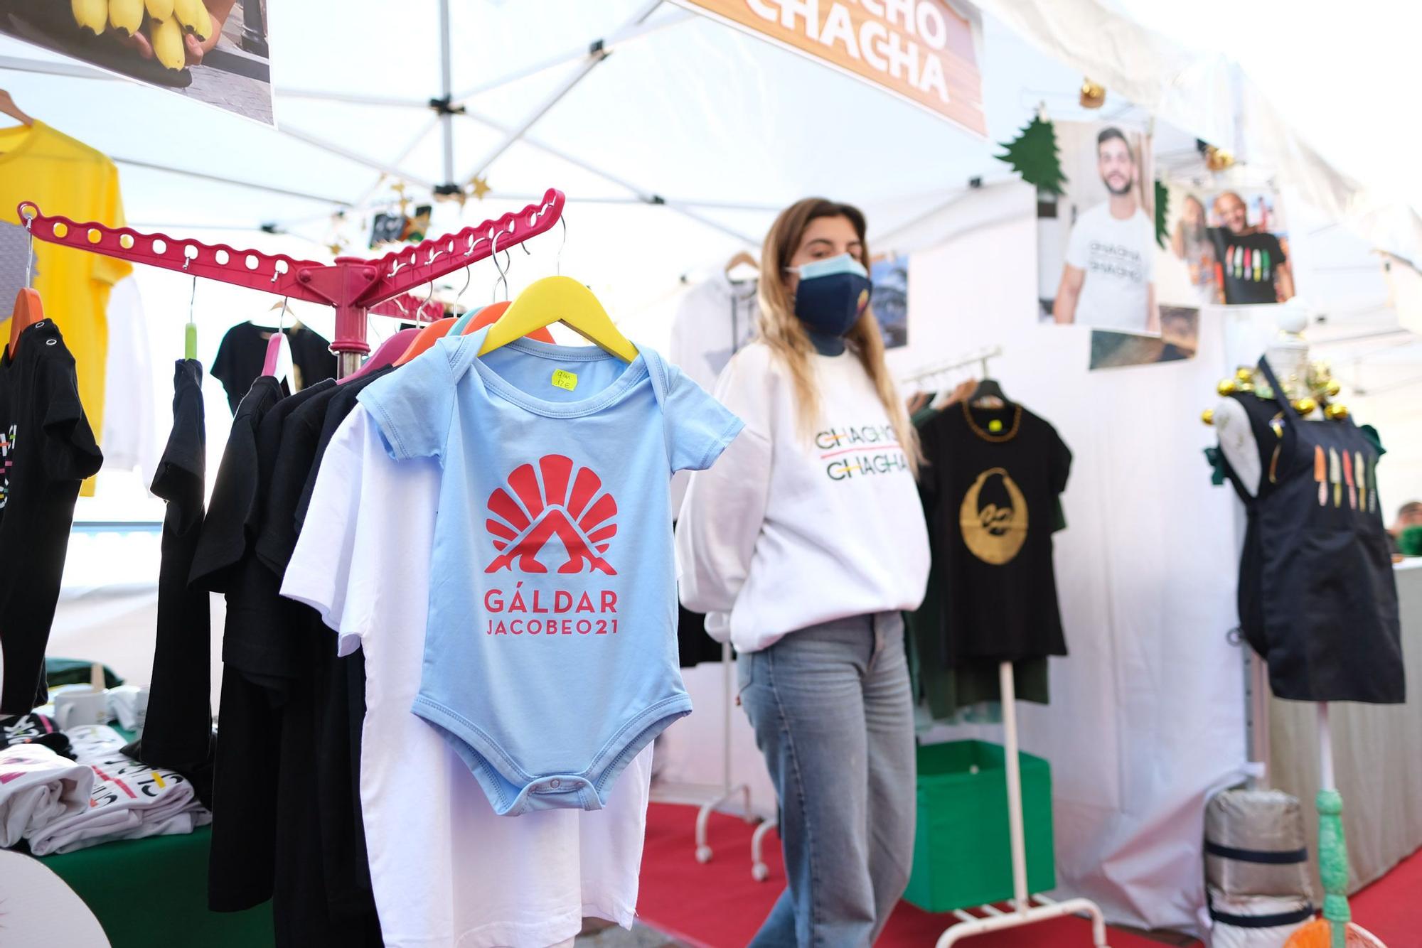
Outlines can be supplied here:
<path id="1" fill-rule="evenodd" d="M 192 783 L 124 756 L 124 738 L 107 725 L 70 728 L 74 758 L 92 773 L 88 806 L 27 834 L 36 856 L 73 853 L 109 840 L 192 833 L 212 822 Z"/>

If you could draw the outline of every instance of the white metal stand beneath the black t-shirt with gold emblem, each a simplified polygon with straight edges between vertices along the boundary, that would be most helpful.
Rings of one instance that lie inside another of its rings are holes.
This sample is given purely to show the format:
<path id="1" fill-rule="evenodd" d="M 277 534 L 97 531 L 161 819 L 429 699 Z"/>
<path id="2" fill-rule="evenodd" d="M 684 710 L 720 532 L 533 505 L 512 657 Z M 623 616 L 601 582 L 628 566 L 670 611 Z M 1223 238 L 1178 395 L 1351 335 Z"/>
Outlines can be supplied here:
<path id="1" fill-rule="evenodd" d="M 973 362 L 977 360 L 968 360 Z M 967 362 L 964 362 L 967 364 Z M 1091 915 L 1091 938 L 1096 948 L 1109 948 L 1106 944 L 1106 918 L 1101 907 L 1089 898 L 1068 898 L 1055 901 L 1045 895 L 1031 895 L 1027 891 L 1027 841 L 1022 833 L 1022 772 L 1017 756 L 1017 682 L 1014 681 L 1012 662 L 1001 662 L 997 667 L 998 686 L 1003 699 L 1003 749 L 1007 763 L 1007 829 L 1012 847 L 1012 911 L 1003 911 L 997 905 L 980 905 L 983 915 L 973 915 L 967 911 L 956 910 L 953 914 L 958 922 L 939 935 L 937 948 L 948 948 L 971 935 L 981 935 L 1004 928 L 1020 928 L 1048 918 L 1062 915 L 1086 914 Z M 1035 905 L 1032 904 L 1035 903 Z"/>

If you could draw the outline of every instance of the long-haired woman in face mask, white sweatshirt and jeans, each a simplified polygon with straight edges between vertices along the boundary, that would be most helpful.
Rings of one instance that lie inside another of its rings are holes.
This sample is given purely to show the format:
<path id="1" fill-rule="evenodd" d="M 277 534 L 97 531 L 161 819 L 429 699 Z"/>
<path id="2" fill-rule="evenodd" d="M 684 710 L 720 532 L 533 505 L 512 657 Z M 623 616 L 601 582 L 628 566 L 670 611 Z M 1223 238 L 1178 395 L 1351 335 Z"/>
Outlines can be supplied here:
<path id="1" fill-rule="evenodd" d="M 715 389 L 745 429 L 691 478 L 681 600 L 739 652 L 779 797 L 788 887 L 751 944 L 869 945 L 913 860 L 899 611 L 929 574 L 917 438 L 869 311 L 863 213 L 801 200 L 761 262 L 758 338 Z"/>

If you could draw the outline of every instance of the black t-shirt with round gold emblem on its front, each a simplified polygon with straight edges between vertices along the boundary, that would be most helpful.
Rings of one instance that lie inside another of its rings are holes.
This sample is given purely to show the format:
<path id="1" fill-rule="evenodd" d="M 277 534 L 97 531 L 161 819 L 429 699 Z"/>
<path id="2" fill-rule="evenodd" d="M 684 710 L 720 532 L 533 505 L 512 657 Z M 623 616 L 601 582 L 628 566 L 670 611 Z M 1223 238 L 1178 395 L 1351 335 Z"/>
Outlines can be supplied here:
<path id="1" fill-rule="evenodd" d="M 1071 451 L 1021 405 L 963 402 L 924 422 L 920 438 L 944 661 L 1065 655 L 1052 527 Z"/>

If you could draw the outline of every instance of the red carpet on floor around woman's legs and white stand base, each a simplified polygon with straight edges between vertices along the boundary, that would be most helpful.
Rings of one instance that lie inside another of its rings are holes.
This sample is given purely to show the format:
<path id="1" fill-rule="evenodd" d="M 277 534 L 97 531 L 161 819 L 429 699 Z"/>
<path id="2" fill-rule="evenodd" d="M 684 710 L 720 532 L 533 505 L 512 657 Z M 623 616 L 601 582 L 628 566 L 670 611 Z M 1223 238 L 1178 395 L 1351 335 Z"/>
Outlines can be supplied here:
<path id="1" fill-rule="evenodd" d="M 779 837 L 766 837 L 765 864 L 771 877 L 751 878 L 754 827 L 720 813 L 712 814 L 711 863 L 697 863 L 694 830 L 697 812 L 688 806 L 653 803 L 647 812 L 647 847 L 641 858 L 641 897 L 637 914 L 654 928 L 707 948 L 741 948 L 785 888 Z M 880 947 L 931 945 L 953 915 L 930 915 L 907 903 L 889 921 Z M 1376 932 L 1381 937 L 1381 932 Z M 975 935 L 967 948 L 1041 948 L 1041 945 L 1091 945 L 1091 922 L 1058 918 L 1027 928 Z M 1404 942 L 1398 942 L 1404 944 Z M 1112 930 L 1111 948 L 1160 948 L 1156 941 Z"/>

